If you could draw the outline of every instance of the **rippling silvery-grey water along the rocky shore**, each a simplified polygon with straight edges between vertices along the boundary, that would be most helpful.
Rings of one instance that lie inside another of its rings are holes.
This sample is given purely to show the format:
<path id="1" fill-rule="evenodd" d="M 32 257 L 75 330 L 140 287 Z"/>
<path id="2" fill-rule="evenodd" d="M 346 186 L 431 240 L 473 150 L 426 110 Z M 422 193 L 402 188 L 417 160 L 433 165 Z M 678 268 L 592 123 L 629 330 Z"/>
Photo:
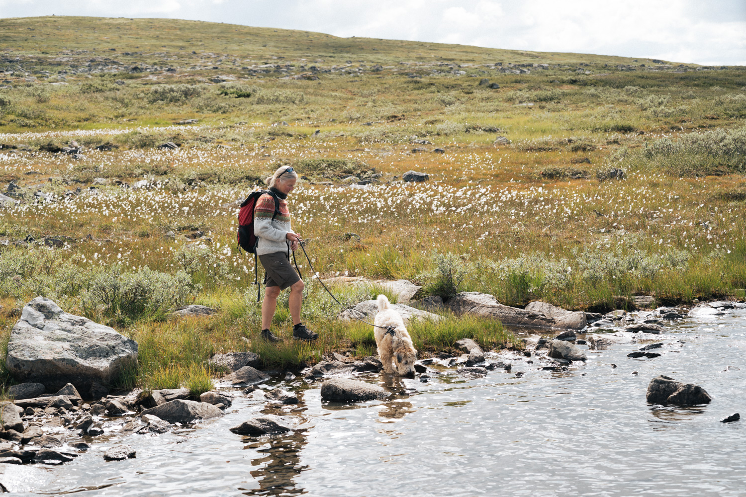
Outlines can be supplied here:
<path id="1" fill-rule="evenodd" d="M 371 375 L 392 400 L 344 407 L 322 405 L 319 384 L 298 406 L 238 396 L 195 429 L 99 437 L 63 466 L 0 465 L 0 481 L 34 496 L 744 496 L 744 421 L 720 420 L 746 415 L 746 310 L 712 312 L 656 337 L 659 358 L 629 359 L 641 345 L 624 344 L 565 371 L 512 356 L 510 373 L 483 379 Z M 712 403 L 648 405 L 660 374 L 702 385 Z M 257 411 L 295 416 L 301 429 L 260 440 L 228 431 Z M 137 459 L 104 462 L 117 443 Z"/>

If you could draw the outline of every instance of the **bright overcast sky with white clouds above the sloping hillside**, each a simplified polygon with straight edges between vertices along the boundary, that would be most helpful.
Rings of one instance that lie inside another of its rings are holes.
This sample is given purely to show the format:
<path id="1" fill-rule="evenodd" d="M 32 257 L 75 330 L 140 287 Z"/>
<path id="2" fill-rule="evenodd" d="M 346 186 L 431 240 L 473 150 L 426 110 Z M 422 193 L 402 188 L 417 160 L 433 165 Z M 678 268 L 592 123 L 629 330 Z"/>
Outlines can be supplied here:
<path id="1" fill-rule="evenodd" d="M 0 17 L 51 14 L 746 66 L 746 0 L 0 0 Z"/>

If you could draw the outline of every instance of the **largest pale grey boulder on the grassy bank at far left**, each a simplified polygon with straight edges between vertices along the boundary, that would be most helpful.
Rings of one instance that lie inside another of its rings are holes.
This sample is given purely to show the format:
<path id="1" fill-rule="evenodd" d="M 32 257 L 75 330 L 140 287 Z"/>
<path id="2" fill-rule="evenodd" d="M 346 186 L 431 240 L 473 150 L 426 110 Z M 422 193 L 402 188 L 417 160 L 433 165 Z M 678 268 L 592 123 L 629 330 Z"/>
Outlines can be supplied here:
<path id="1" fill-rule="evenodd" d="M 137 342 L 113 328 L 64 312 L 44 297 L 31 300 L 10 332 L 7 370 L 22 382 L 50 390 L 72 383 L 87 392 L 109 384 L 122 367 L 137 363 Z"/>

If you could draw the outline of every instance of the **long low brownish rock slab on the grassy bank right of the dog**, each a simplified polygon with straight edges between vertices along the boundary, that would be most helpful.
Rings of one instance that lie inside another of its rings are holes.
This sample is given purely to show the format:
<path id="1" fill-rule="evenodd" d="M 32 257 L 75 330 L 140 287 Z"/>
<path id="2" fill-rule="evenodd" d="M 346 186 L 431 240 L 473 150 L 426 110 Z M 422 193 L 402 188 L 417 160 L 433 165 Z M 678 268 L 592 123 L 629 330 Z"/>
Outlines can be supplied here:
<path id="1" fill-rule="evenodd" d="M 551 317 L 541 312 L 517 307 L 503 306 L 490 294 L 478 291 L 462 291 L 448 300 L 446 306 L 456 314 L 472 314 L 480 317 L 495 317 L 506 326 L 527 326 L 530 328 L 579 329 L 580 323 L 586 326 L 586 317 L 577 315 Z M 552 306 L 554 307 L 554 306 Z M 563 309 L 561 309 L 563 310 Z M 582 326 L 581 326 L 582 327 Z"/>

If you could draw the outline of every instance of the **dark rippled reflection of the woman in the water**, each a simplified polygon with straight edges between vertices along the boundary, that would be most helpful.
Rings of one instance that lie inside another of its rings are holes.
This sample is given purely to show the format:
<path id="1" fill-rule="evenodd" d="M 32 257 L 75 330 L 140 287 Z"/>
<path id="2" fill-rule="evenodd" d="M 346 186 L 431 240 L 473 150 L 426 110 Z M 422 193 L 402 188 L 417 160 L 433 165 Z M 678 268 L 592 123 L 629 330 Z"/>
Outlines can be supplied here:
<path id="1" fill-rule="evenodd" d="M 301 496 L 307 493 L 306 490 L 295 487 L 295 477 L 308 469 L 308 466 L 301 464 L 298 455 L 307 443 L 306 436 L 306 431 L 295 431 L 244 446 L 244 449 L 256 449 L 264 455 L 251 461 L 252 466 L 259 466 L 250 472 L 259 488 L 245 492 L 244 495 Z"/>

